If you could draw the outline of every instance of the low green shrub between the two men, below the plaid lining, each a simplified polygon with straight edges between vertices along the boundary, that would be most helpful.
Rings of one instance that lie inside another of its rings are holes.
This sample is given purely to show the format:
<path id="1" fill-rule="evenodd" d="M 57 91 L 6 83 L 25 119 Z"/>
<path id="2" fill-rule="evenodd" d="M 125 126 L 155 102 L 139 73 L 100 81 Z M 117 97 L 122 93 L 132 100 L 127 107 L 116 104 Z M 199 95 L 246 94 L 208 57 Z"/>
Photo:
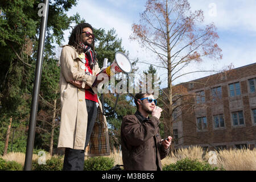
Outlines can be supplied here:
<path id="1" fill-rule="evenodd" d="M 84 171 L 108 171 L 112 167 L 114 167 L 114 159 L 104 156 L 89 158 L 84 162 Z"/>

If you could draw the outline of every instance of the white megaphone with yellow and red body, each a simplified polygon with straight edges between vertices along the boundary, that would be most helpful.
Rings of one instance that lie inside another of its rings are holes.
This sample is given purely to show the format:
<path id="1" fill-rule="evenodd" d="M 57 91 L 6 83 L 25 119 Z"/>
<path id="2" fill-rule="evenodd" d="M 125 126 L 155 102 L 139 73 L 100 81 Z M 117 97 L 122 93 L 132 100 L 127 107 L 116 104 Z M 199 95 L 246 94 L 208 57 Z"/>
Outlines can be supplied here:
<path id="1" fill-rule="evenodd" d="M 131 62 L 128 59 L 128 57 L 122 52 L 116 52 L 113 63 L 109 67 L 102 69 L 102 71 L 98 73 L 98 75 L 96 76 L 100 78 L 102 77 L 110 78 L 110 77 L 113 77 L 115 74 L 118 74 L 121 72 L 131 73 L 131 70 L 132 70 Z"/>

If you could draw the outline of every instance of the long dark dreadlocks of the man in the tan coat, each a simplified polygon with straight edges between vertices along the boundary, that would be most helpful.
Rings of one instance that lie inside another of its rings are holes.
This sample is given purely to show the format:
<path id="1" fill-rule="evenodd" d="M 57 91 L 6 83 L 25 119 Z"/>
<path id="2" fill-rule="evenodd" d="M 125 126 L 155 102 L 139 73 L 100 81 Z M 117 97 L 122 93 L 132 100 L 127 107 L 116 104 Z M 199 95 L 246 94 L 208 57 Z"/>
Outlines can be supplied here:
<path id="1" fill-rule="evenodd" d="M 71 36 L 69 37 L 68 45 L 75 47 L 76 51 L 81 54 L 83 52 L 82 47 L 80 46 L 80 42 L 82 42 L 82 28 L 90 28 L 93 31 L 93 27 L 89 23 L 79 23 L 77 26 L 72 30 Z M 92 51 L 94 55 L 96 55 L 94 49 L 94 39 L 92 41 Z"/>

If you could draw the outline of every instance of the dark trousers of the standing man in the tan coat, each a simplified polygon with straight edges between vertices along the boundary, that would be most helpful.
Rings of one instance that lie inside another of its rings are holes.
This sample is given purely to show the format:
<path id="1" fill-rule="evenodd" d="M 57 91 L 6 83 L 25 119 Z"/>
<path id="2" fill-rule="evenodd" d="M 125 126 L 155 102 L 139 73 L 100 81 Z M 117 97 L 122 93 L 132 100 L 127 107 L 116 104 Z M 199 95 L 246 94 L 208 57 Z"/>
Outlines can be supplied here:
<path id="1" fill-rule="evenodd" d="M 90 135 L 92 134 L 93 126 L 97 117 L 96 102 L 85 100 L 88 113 L 87 131 L 85 139 L 85 147 L 90 141 Z M 64 171 L 82 171 L 84 170 L 84 152 L 85 150 L 75 150 L 73 148 L 65 148 L 64 156 Z"/>

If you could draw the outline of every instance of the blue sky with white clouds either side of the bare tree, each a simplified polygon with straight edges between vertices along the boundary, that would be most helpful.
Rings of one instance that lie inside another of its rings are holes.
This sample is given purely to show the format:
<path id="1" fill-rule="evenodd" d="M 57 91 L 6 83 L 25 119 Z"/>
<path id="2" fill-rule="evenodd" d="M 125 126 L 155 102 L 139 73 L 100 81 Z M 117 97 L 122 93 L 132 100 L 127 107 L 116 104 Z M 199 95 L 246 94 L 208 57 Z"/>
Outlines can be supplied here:
<path id="1" fill-rule="evenodd" d="M 139 13 L 144 11 L 146 0 L 80 0 L 76 7 L 69 10 L 68 15 L 79 13 L 86 22 L 96 28 L 106 31 L 114 28 L 122 39 L 123 47 L 130 52 L 130 59 L 147 60 L 153 63 L 152 57 L 147 57 L 136 42 L 131 42 L 131 24 L 138 23 Z M 212 61 L 205 59 L 201 64 L 192 64 L 184 72 L 200 70 L 222 69 L 229 64 L 234 68 L 256 62 L 256 0 L 189 0 L 191 10 L 203 10 L 205 23 L 214 22 L 220 37 L 218 46 L 222 49 L 223 59 Z M 216 11 L 213 11 L 216 10 Z M 65 43 L 68 42 L 69 31 L 65 31 Z M 148 65 L 139 65 L 143 72 Z M 167 71 L 160 70 L 162 86 L 167 86 Z M 212 73 L 196 73 L 181 77 L 175 84 L 196 78 L 208 76 Z M 162 87 L 161 86 L 161 87 Z"/>

